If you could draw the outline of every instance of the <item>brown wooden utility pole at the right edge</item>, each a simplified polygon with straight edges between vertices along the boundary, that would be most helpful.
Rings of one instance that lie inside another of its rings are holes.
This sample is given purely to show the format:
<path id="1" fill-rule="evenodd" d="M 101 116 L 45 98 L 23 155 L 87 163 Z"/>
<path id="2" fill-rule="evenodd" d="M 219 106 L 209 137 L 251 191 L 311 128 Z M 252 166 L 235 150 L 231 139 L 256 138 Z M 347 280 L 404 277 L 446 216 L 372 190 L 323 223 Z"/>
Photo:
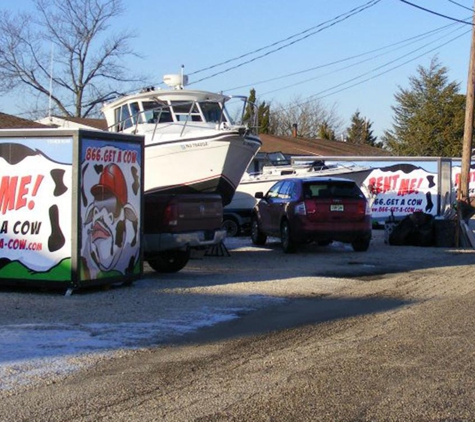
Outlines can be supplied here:
<path id="1" fill-rule="evenodd" d="M 474 1 L 475 10 L 475 1 Z M 469 198 L 469 175 L 472 158 L 473 139 L 473 109 L 475 102 L 475 12 L 472 19 L 472 44 L 470 47 L 470 65 L 467 78 L 467 100 L 465 106 L 465 127 L 463 132 L 462 169 L 460 173 L 460 184 L 457 194 L 457 201 L 470 203 Z M 460 211 L 460 206 L 458 207 Z"/>

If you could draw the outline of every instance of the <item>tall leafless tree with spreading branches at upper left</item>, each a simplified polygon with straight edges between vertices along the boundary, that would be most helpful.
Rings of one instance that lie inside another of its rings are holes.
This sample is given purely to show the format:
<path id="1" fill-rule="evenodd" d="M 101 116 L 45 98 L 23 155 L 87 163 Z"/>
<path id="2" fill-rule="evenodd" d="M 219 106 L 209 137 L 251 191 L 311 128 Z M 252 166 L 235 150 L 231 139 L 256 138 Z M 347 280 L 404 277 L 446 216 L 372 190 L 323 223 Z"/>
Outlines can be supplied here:
<path id="1" fill-rule="evenodd" d="M 121 0 L 32 0 L 35 14 L 0 11 L 0 93 L 50 99 L 68 117 L 97 114 L 118 87 L 141 81 L 121 60 L 134 55 L 127 31 L 106 36 Z M 53 58 L 53 60 L 52 60 Z M 52 89 L 50 89 L 52 87 Z M 46 109 L 46 107 L 44 107 Z"/>

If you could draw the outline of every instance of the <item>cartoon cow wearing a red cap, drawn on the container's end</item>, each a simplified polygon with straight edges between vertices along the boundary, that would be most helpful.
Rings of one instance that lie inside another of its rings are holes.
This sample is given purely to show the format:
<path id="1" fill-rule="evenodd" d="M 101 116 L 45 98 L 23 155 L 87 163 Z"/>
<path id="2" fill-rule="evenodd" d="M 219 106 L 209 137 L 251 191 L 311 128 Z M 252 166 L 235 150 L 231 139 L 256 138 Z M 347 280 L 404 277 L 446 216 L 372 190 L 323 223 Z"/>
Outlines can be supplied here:
<path id="1" fill-rule="evenodd" d="M 128 202 L 127 183 L 120 167 L 117 164 L 104 167 L 90 192 L 94 201 L 87 208 L 83 222 L 87 230 L 82 253 L 85 270 L 90 276 L 98 270 L 126 273 L 138 256 L 138 216 Z M 132 237 L 127 236 L 127 227 L 132 227 Z"/>

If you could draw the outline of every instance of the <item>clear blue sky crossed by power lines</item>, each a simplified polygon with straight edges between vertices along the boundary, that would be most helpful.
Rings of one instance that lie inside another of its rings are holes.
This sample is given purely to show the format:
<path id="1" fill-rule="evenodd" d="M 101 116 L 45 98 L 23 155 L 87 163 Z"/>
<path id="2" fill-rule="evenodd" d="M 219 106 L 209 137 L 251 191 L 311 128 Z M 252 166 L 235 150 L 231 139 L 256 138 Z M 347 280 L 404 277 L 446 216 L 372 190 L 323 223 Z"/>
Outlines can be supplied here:
<path id="1" fill-rule="evenodd" d="M 235 95 L 255 88 L 258 100 L 271 104 L 317 99 L 335 107 L 343 127 L 359 110 L 380 136 L 391 127 L 398 87 L 408 87 L 433 57 L 466 92 L 471 25 L 457 20 L 471 22 L 472 1 L 410 3 L 135 0 L 124 2 L 111 30 L 137 35 L 131 46 L 142 58 L 128 66 L 145 72 L 150 84 L 184 65 L 190 88 Z M 1 8 L 28 10 L 31 1 L 7 0 Z M 20 101 L 0 98 L 0 111 L 18 115 Z"/>

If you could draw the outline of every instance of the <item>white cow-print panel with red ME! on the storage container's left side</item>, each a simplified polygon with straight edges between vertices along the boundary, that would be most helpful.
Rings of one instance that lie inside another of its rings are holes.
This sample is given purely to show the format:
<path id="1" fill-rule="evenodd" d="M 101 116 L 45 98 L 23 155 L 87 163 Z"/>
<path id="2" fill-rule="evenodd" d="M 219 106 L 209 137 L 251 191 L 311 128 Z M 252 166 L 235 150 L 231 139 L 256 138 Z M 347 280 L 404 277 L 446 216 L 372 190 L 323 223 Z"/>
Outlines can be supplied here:
<path id="1" fill-rule="evenodd" d="M 0 139 L 0 278 L 71 278 L 72 146 Z"/>

